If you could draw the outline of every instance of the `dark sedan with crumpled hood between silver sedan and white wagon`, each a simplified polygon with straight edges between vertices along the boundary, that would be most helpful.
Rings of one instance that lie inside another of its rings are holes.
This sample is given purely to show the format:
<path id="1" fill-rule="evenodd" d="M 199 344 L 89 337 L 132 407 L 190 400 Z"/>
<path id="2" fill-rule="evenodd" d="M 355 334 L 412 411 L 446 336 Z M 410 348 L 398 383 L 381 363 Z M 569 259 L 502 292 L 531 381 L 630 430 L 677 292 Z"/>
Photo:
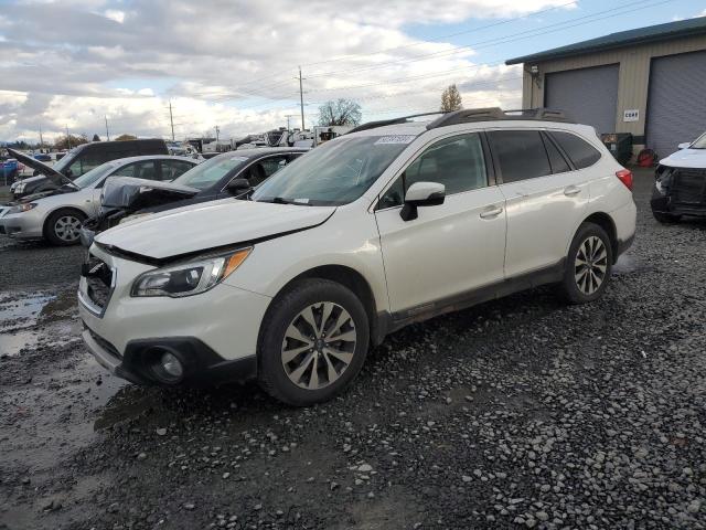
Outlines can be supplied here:
<path id="1" fill-rule="evenodd" d="M 104 190 L 100 212 L 87 220 L 81 230 L 82 244 L 90 246 L 96 233 L 128 218 L 240 195 L 307 151 L 274 147 L 223 152 L 169 184 L 113 179 Z"/>

